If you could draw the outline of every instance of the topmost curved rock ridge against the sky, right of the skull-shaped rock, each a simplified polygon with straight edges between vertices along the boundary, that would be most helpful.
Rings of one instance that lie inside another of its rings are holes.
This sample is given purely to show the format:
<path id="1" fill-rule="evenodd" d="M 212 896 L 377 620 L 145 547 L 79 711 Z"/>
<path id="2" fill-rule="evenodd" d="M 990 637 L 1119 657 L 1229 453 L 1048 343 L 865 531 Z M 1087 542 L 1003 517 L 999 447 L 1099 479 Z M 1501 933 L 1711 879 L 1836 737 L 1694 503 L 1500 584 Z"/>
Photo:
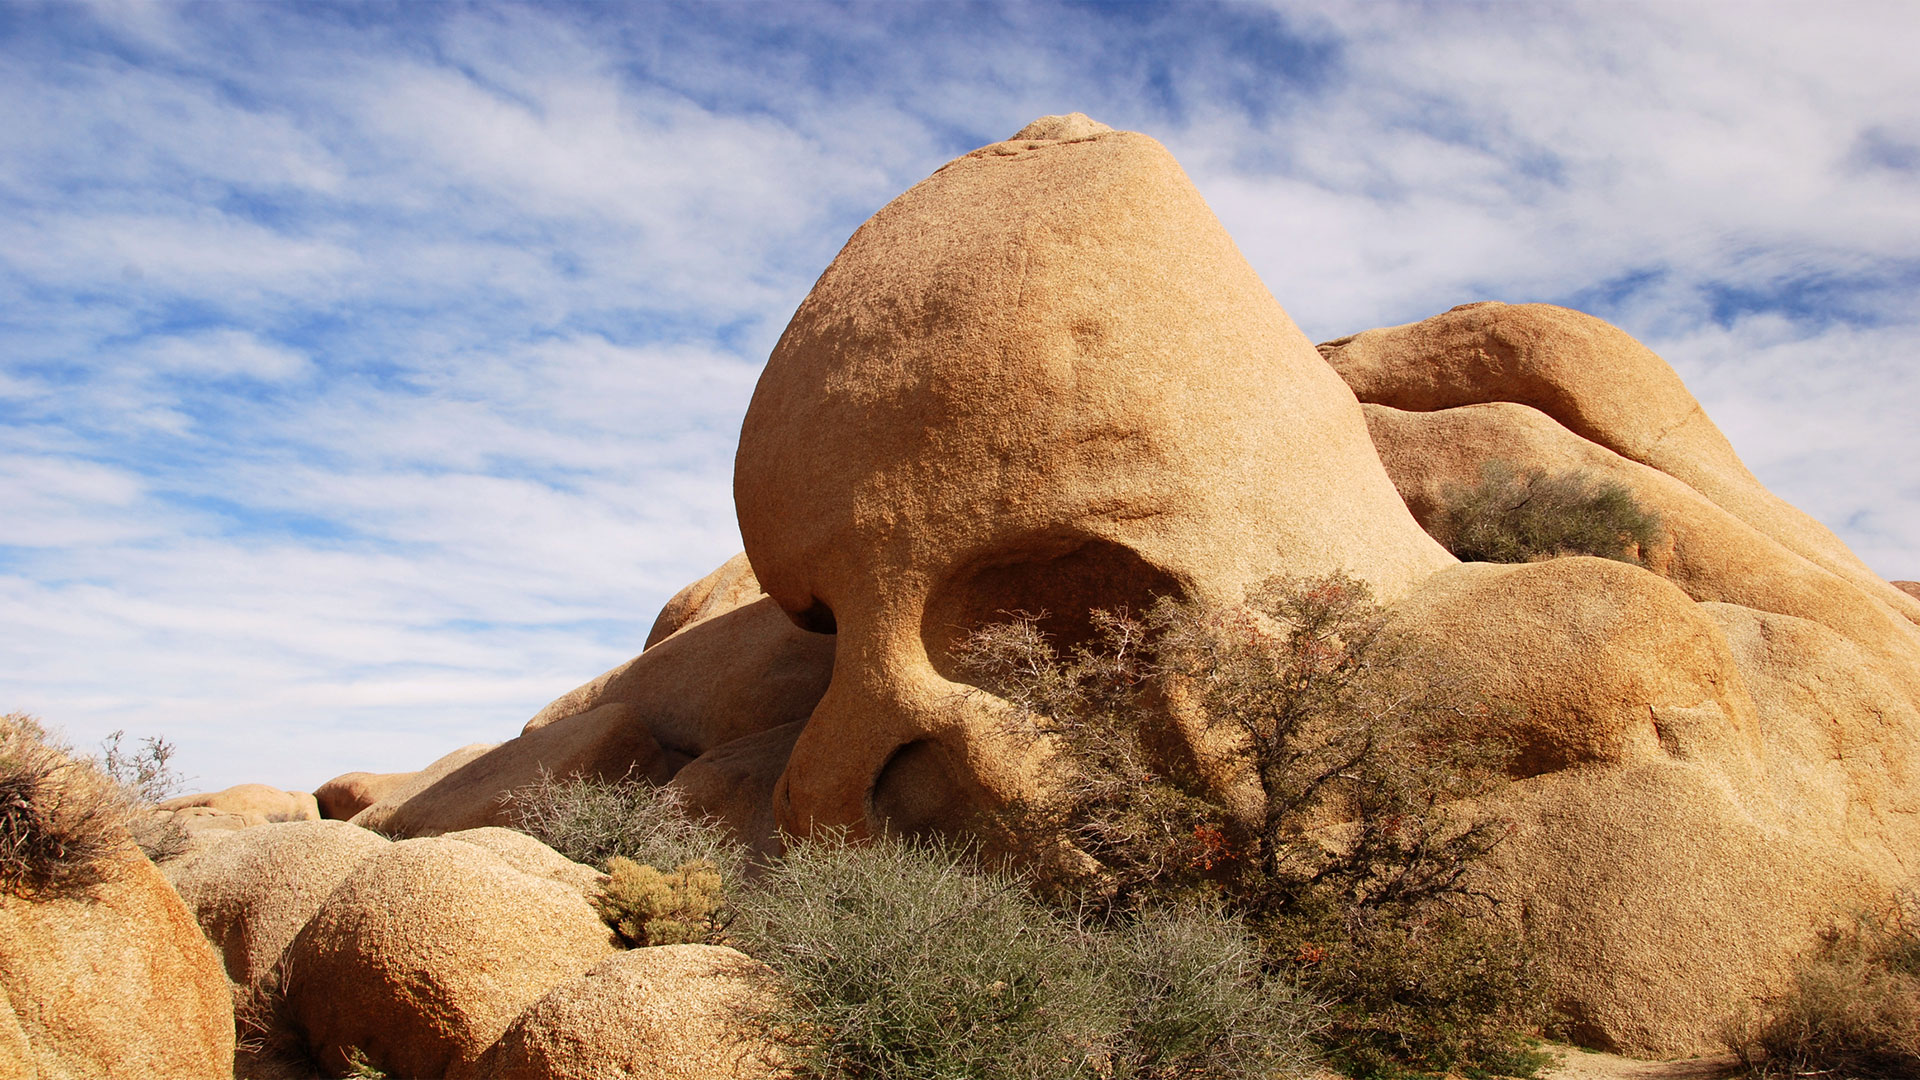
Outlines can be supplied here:
<path id="1" fill-rule="evenodd" d="M 1920 603 L 1866 569 L 1824 525 L 1761 486 L 1653 350 L 1551 304 L 1463 304 L 1321 346 L 1361 402 L 1438 411 L 1515 402 L 1580 438 L 1688 484 L 1789 552 L 1920 623 Z M 749 548 L 751 550 L 751 548 Z"/>

